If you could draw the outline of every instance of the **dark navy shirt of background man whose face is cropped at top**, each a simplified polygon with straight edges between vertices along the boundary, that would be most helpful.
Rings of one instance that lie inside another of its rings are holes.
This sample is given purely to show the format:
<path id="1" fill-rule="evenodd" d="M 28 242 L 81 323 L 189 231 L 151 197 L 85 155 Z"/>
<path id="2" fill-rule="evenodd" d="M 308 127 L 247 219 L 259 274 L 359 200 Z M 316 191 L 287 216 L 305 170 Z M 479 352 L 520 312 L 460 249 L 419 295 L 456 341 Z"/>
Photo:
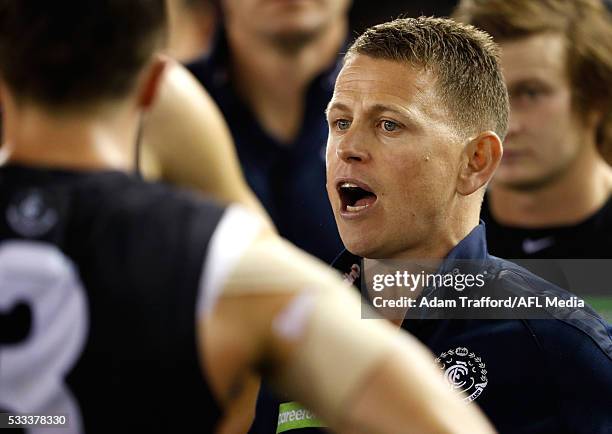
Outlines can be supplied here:
<path id="1" fill-rule="evenodd" d="M 221 31 L 209 57 L 187 68 L 210 92 L 229 125 L 245 178 L 280 235 L 331 262 L 342 243 L 325 190 L 325 108 L 340 58 L 308 87 L 302 126 L 292 143 L 264 131 L 232 82 L 227 40 Z M 204 170 L 204 169 L 203 169 Z"/>

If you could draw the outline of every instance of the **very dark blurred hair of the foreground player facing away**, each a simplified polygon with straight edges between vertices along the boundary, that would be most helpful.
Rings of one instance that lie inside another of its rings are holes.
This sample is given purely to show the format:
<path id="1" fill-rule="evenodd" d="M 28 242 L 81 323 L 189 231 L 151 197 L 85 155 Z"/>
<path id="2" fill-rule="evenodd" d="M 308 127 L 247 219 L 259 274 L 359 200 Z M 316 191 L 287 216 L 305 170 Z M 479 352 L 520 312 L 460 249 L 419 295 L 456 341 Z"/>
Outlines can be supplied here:
<path id="1" fill-rule="evenodd" d="M 18 101 L 46 107 L 115 99 L 165 24 L 164 0 L 0 0 L 0 75 Z"/>

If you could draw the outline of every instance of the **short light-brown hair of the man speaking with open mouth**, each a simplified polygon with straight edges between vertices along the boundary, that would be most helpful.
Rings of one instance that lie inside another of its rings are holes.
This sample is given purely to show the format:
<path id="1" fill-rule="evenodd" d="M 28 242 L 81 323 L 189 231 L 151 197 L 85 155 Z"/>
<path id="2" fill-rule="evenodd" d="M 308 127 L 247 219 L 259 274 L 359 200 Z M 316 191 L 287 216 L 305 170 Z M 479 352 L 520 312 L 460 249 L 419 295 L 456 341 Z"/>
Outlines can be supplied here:
<path id="1" fill-rule="evenodd" d="M 433 72 L 437 93 L 460 130 L 492 130 L 503 139 L 509 108 L 498 52 L 489 35 L 470 25 L 419 17 L 369 28 L 346 56 L 362 54 Z"/>

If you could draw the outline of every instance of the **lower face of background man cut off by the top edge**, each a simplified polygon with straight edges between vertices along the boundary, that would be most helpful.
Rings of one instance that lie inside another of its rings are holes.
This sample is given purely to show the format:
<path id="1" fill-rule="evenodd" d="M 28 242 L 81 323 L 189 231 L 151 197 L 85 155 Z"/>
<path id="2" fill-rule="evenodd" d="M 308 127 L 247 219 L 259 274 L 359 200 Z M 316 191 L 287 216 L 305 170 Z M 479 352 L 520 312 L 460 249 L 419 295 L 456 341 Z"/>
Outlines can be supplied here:
<path id="1" fill-rule="evenodd" d="M 268 38 L 308 38 L 347 14 L 350 0 L 224 0 L 231 25 Z"/>

